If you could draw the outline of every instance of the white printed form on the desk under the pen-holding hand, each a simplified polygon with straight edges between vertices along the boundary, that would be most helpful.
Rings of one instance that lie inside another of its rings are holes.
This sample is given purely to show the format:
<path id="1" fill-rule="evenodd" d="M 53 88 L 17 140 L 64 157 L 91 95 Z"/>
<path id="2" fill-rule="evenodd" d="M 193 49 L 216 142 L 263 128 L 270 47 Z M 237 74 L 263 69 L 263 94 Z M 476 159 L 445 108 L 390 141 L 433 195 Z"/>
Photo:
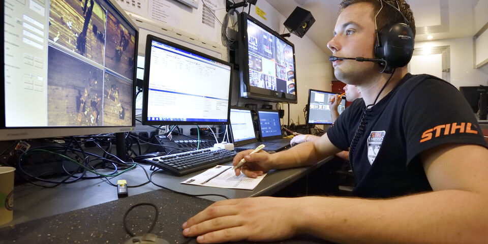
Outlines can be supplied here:
<path id="1" fill-rule="evenodd" d="M 257 178 L 250 178 L 245 174 L 235 176 L 232 166 L 217 165 L 214 168 L 190 177 L 181 183 L 204 187 L 253 190 L 259 182 L 261 182 L 264 176 L 266 176 L 266 174 L 258 176 Z"/>

